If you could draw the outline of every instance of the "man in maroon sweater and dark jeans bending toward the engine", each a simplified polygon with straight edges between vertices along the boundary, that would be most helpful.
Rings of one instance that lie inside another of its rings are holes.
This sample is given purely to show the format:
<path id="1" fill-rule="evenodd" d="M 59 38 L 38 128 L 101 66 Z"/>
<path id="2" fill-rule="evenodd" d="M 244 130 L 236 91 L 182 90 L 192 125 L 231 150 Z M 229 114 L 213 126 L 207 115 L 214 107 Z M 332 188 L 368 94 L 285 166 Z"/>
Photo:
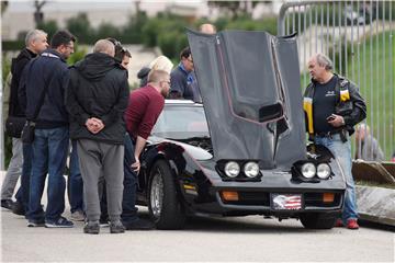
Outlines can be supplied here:
<path id="1" fill-rule="evenodd" d="M 154 125 L 163 110 L 165 98 L 170 90 L 170 76 L 163 70 L 151 70 L 146 87 L 133 91 L 125 113 L 126 129 L 131 139 L 125 140 L 125 172 L 122 220 L 127 230 L 153 228 L 153 224 L 138 219 L 136 204 L 139 156 Z M 125 168 L 126 169 L 126 168 Z"/>

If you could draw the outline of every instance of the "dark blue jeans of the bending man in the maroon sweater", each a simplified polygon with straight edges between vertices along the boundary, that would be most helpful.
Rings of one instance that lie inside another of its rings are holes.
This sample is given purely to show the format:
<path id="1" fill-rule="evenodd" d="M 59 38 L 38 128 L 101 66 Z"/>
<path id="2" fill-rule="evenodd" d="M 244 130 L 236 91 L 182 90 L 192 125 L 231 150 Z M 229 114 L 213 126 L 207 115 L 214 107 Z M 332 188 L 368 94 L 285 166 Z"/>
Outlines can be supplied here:
<path id="1" fill-rule="evenodd" d="M 135 158 L 134 146 L 128 134 L 125 135 L 124 146 L 124 191 L 121 218 L 124 224 L 127 224 L 138 219 L 136 207 L 137 174 L 131 168 L 135 162 Z"/>

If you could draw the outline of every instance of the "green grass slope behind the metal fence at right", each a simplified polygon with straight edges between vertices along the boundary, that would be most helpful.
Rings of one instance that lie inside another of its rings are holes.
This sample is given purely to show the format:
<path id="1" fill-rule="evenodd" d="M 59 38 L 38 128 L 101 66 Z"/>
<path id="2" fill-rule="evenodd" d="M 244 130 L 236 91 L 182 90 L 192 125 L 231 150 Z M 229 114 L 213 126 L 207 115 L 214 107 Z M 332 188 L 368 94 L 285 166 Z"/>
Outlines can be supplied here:
<path id="1" fill-rule="evenodd" d="M 349 78 L 357 83 L 359 82 L 360 92 L 368 106 L 366 123 L 371 126 L 371 132 L 385 151 L 386 160 L 391 159 L 395 150 L 395 127 L 391 126 L 395 124 L 394 37 L 390 47 L 390 32 L 372 36 L 366 39 L 365 47 L 360 46 L 359 48 L 360 61 L 357 58 L 348 61 Z M 358 48 L 354 52 L 357 53 Z M 360 75 L 358 75 L 358 69 L 360 69 Z"/>

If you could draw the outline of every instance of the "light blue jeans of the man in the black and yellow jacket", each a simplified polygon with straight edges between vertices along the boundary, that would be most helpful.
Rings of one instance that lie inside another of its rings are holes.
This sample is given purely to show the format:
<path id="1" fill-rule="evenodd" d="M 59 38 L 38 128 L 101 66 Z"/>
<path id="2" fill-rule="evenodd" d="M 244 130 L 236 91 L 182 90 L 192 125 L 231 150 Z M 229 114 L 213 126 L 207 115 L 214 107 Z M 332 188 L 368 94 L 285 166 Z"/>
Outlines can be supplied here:
<path id="1" fill-rule="evenodd" d="M 342 209 L 341 219 L 346 224 L 349 219 L 357 219 L 357 202 L 356 202 L 356 184 L 352 178 L 352 159 L 351 159 L 351 144 L 347 136 L 347 141 L 342 142 L 340 135 L 336 134 L 330 137 L 316 137 L 316 145 L 327 147 L 331 153 L 337 158 L 340 167 L 345 173 L 346 179 L 346 196 L 345 206 Z"/>

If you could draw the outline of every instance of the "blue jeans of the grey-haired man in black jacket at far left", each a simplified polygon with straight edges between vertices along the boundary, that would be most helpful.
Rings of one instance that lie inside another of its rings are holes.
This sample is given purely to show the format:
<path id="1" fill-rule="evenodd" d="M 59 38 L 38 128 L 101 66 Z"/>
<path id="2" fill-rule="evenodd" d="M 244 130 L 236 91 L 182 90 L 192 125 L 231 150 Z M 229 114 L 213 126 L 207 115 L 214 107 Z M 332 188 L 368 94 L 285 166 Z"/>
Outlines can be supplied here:
<path id="1" fill-rule="evenodd" d="M 33 145 L 23 144 L 23 164 L 21 174 L 21 185 L 15 194 L 15 198 L 19 203 L 23 204 L 25 214 L 29 210 L 29 196 L 30 196 L 30 180 L 32 173 L 32 159 L 33 159 Z"/>

